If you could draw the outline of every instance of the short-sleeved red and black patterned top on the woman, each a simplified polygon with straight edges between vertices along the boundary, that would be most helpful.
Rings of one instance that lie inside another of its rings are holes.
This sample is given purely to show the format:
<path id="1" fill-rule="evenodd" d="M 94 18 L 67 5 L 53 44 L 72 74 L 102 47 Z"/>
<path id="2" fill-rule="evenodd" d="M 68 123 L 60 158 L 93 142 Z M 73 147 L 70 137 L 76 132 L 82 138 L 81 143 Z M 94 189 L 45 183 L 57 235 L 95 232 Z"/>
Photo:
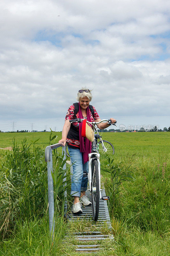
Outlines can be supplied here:
<path id="1" fill-rule="evenodd" d="M 94 121 L 96 121 L 96 119 L 100 118 L 97 111 L 96 111 L 96 108 L 93 107 L 93 109 L 94 109 L 94 118 L 93 118 L 93 115 L 92 115 L 92 113 L 89 109 L 91 122 L 94 122 Z M 65 120 L 72 120 L 74 118 L 75 118 L 74 117 L 74 105 L 71 105 L 67 110 Z M 79 113 L 76 114 L 76 118 L 79 118 Z M 66 141 L 67 141 L 69 147 L 71 147 L 71 148 L 80 148 L 79 123 L 74 122 L 74 123 L 71 124 L 70 131 L 67 135 L 67 140 Z"/>

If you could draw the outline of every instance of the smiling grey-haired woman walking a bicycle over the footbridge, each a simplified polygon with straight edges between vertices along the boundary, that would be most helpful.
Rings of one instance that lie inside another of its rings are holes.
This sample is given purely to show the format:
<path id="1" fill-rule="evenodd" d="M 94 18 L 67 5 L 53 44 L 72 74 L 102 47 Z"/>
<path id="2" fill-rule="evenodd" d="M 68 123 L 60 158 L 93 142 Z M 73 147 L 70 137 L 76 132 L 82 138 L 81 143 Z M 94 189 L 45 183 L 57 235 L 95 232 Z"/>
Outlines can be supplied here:
<path id="1" fill-rule="evenodd" d="M 101 119 L 93 106 L 89 106 L 92 100 L 92 95 L 89 89 L 79 90 L 77 94 L 78 112 L 75 111 L 74 104 L 68 108 L 65 118 L 65 124 L 62 130 L 62 139 L 64 146 L 68 143 L 68 151 L 73 164 L 73 176 L 71 184 L 71 196 L 74 196 L 73 213 L 82 213 L 81 203 L 91 205 L 91 202 L 86 197 L 88 185 L 88 177 L 83 176 L 83 172 L 88 173 L 88 154 L 91 153 L 91 143 L 86 138 L 81 137 L 81 123 L 70 123 L 69 120 L 75 118 L 87 119 L 89 122 L 99 122 Z M 77 113 L 75 113 L 77 112 Z M 116 122 L 116 119 L 110 118 L 111 122 Z M 108 123 L 97 125 L 99 129 L 105 129 L 110 126 Z M 80 127 L 80 129 L 79 129 Z M 79 201 L 80 197 L 80 201 Z"/>

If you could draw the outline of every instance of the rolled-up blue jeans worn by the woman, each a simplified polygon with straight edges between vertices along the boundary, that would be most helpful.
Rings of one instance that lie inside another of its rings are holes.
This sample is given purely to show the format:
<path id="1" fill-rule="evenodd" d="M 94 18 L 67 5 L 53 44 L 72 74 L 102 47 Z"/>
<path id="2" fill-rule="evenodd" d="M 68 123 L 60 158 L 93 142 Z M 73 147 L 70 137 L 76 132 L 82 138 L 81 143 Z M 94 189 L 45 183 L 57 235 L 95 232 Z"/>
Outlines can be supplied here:
<path id="1" fill-rule="evenodd" d="M 83 172 L 89 172 L 89 162 L 84 164 L 83 154 L 78 148 L 70 148 L 68 152 L 73 164 L 73 176 L 71 183 L 71 196 L 79 196 L 80 192 L 87 190 L 88 176 L 83 177 Z"/>

